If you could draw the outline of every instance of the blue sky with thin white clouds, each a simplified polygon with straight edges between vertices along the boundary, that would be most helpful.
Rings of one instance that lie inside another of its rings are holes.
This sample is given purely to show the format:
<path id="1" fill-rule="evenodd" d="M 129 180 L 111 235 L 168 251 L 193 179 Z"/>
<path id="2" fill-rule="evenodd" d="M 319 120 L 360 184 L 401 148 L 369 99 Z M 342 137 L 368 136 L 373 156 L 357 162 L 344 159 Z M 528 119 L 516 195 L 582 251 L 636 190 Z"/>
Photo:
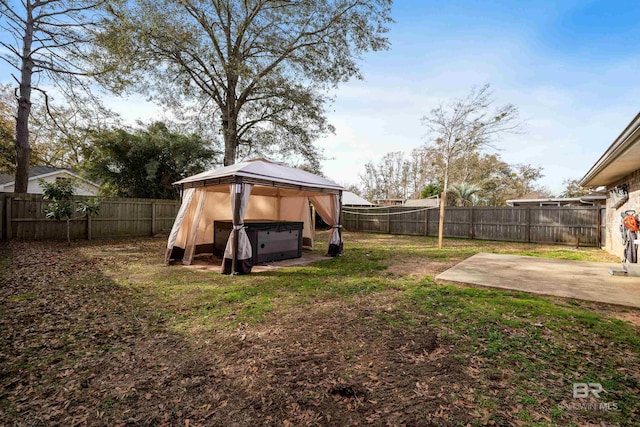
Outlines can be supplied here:
<path id="1" fill-rule="evenodd" d="M 331 157 L 323 170 L 358 184 L 367 161 L 425 143 L 420 118 L 439 102 L 489 83 L 526 120 L 525 134 L 497 143 L 501 156 L 542 166 L 540 183 L 560 192 L 639 110 L 638 16 L 640 2 L 628 0 L 398 0 L 391 49 L 367 54 L 364 80 L 335 91 L 336 133 L 318 141 Z M 132 122 L 163 115 L 135 97 L 108 104 Z"/>

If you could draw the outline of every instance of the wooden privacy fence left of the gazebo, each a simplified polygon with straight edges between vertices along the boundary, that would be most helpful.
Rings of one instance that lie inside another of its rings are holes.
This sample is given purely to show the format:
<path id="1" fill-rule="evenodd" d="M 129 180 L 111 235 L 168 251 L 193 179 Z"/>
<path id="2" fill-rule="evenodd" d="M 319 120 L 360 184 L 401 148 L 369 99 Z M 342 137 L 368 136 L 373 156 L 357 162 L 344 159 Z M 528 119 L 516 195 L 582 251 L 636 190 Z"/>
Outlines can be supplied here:
<path id="1" fill-rule="evenodd" d="M 74 200 L 88 197 L 76 196 Z M 100 212 L 71 221 L 72 239 L 151 236 L 171 230 L 178 200 L 100 198 Z M 47 219 L 40 194 L 0 193 L 0 236 L 3 240 L 66 238 L 66 222 Z"/>

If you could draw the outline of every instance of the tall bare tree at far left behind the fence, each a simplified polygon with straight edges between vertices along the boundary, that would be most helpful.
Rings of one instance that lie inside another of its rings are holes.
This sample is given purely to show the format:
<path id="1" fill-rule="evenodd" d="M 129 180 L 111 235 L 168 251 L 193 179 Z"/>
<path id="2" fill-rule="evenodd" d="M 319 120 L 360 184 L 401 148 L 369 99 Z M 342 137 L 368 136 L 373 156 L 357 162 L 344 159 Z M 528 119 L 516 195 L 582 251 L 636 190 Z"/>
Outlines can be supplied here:
<path id="1" fill-rule="evenodd" d="M 47 102 L 38 83 L 88 75 L 83 48 L 98 19 L 94 14 L 105 0 L 0 0 L 0 28 L 9 37 L 0 40 L 0 59 L 15 70 L 15 191 L 26 192 L 29 174 L 29 116 L 32 91 Z"/>

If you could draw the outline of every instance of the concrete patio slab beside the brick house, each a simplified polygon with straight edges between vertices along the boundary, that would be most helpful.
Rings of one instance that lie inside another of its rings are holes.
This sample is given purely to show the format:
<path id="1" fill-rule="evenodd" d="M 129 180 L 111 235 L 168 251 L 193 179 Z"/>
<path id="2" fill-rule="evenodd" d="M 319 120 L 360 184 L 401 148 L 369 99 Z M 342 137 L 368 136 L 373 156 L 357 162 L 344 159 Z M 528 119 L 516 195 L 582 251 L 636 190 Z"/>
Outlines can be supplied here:
<path id="1" fill-rule="evenodd" d="M 621 266 L 479 253 L 436 280 L 640 308 L 640 277 L 612 276 L 610 268 Z"/>

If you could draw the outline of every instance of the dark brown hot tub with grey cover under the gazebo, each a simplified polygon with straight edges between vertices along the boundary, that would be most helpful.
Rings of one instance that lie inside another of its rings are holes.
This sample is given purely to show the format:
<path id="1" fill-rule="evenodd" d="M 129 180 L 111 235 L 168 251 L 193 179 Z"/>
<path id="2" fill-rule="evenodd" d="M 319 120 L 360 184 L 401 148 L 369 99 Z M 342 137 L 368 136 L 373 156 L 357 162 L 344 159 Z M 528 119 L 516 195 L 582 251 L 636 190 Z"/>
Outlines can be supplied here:
<path id="1" fill-rule="evenodd" d="M 302 256 L 302 228 L 304 223 L 294 221 L 245 221 L 247 236 L 253 252 L 252 263 L 264 264 Z M 231 221 L 213 222 L 213 254 L 224 256 Z"/>

